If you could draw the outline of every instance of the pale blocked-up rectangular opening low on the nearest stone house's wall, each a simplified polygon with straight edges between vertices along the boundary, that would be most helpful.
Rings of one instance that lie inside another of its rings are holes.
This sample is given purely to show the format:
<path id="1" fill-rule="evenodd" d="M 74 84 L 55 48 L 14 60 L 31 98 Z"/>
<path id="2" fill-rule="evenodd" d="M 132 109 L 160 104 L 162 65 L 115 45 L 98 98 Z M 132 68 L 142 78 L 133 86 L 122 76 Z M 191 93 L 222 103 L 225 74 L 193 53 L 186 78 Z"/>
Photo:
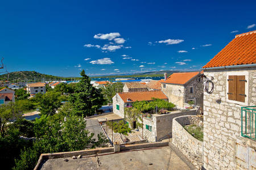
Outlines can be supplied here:
<path id="1" fill-rule="evenodd" d="M 237 169 L 256 169 L 256 142 L 247 138 L 237 139 Z"/>

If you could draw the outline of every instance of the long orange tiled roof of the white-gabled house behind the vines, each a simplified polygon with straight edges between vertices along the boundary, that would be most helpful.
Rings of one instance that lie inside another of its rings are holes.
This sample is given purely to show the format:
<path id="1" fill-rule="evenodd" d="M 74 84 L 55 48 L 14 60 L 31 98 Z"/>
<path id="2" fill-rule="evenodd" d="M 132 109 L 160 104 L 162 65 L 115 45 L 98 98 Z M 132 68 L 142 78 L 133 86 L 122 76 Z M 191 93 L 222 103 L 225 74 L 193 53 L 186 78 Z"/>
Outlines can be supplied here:
<path id="1" fill-rule="evenodd" d="M 143 92 L 122 92 L 118 93 L 118 95 L 121 97 L 121 99 L 125 103 L 131 103 L 134 101 L 150 101 L 152 98 L 157 99 L 168 99 L 166 95 L 160 90 L 156 91 L 143 91 Z"/>

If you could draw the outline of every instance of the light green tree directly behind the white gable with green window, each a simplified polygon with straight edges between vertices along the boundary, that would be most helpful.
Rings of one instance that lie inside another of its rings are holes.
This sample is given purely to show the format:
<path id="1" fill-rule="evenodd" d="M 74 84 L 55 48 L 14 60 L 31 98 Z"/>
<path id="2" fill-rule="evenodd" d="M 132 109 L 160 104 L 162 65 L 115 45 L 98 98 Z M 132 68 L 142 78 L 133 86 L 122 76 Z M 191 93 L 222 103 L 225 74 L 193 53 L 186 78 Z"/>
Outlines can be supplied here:
<path id="1" fill-rule="evenodd" d="M 109 83 L 102 89 L 102 94 L 104 95 L 105 99 L 108 103 L 112 103 L 112 98 L 115 94 L 123 91 L 123 83 Z"/>

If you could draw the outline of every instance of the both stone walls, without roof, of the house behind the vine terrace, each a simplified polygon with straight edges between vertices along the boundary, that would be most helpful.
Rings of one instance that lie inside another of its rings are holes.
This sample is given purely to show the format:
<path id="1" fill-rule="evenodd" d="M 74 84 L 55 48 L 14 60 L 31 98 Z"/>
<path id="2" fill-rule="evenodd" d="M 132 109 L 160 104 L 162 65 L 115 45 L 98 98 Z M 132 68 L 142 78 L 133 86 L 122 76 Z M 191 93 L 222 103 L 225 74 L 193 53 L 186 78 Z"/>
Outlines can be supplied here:
<path id="1" fill-rule="evenodd" d="M 189 100 L 193 100 L 196 105 L 203 108 L 204 83 L 203 80 L 198 81 L 198 76 L 183 85 L 162 83 L 161 89 L 169 102 L 174 103 L 178 108 L 184 108 L 184 104 Z"/>

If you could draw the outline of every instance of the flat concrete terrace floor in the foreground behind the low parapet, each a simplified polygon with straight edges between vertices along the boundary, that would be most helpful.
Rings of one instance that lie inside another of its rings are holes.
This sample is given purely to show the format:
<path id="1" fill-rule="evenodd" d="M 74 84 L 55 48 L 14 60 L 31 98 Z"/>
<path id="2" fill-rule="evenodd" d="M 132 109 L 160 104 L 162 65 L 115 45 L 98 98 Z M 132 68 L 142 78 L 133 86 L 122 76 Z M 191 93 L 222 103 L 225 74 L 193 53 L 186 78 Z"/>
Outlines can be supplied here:
<path id="1" fill-rule="evenodd" d="M 190 169 L 170 147 L 147 150 L 126 151 L 116 154 L 94 156 L 92 158 L 49 159 L 41 169 Z"/>

